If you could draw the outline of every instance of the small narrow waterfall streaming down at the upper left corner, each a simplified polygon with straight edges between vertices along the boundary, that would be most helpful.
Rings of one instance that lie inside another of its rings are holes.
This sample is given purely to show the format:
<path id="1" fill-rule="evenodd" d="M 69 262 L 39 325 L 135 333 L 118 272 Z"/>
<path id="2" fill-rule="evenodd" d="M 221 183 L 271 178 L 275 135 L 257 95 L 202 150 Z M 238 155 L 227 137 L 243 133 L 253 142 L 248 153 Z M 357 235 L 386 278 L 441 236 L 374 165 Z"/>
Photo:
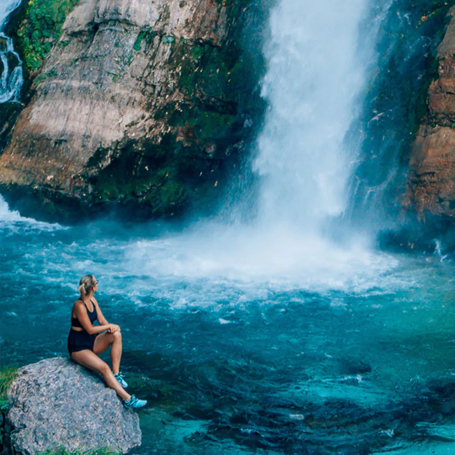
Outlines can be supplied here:
<path id="1" fill-rule="evenodd" d="M 15 10 L 22 0 L 2 0 L 0 3 L 0 104 L 7 101 L 19 101 L 24 82 L 22 61 L 13 47 L 13 40 L 3 33 L 8 15 Z"/>

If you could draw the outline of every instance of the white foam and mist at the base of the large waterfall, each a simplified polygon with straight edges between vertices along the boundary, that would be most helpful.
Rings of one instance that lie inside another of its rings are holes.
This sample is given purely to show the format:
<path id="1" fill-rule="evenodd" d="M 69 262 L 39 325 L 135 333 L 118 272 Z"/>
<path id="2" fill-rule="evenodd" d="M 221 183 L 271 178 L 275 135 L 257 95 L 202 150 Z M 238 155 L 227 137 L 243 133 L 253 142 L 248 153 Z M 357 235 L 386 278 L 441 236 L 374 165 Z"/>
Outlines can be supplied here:
<path id="1" fill-rule="evenodd" d="M 158 280 L 319 292 L 369 289 L 398 265 L 360 241 L 341 248 L 318 236 L 296 236 L 286 226 L 262 231 L 200 226 L 184 235 L 130 243 L 125 259 L 133 275 Z"/>

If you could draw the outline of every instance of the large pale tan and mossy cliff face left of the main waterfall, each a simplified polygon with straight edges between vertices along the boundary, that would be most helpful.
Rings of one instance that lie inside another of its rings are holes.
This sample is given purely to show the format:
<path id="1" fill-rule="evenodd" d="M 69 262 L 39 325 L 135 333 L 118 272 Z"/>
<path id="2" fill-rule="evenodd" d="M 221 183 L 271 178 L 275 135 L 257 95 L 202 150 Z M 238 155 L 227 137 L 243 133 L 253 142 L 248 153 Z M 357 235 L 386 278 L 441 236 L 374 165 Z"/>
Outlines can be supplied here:
<path id="1" fill-rule="evenodd" d="M 0 186 L 51 212 L 61 202 L 204 208 L 260 115 L 254 51 L 240 44 L 251 21 L 246 0 L 80 0 L 31 73 Z"/>

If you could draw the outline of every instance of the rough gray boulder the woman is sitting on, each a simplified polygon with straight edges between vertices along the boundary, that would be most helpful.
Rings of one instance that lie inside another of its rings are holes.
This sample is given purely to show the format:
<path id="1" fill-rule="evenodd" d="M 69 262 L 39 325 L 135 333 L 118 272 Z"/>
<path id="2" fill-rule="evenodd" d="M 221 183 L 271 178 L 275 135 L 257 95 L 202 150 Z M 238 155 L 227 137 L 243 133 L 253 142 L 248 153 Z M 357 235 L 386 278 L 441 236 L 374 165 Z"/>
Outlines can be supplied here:
<path id="1" fill-rule="evenodd" d="M 8 401 L 5 447 L 14 453 L 33 455 L 58 446 L 125 453 L 141 445 L 139 417 L 101 377 L 61 357 L 22 367 Z"/>

